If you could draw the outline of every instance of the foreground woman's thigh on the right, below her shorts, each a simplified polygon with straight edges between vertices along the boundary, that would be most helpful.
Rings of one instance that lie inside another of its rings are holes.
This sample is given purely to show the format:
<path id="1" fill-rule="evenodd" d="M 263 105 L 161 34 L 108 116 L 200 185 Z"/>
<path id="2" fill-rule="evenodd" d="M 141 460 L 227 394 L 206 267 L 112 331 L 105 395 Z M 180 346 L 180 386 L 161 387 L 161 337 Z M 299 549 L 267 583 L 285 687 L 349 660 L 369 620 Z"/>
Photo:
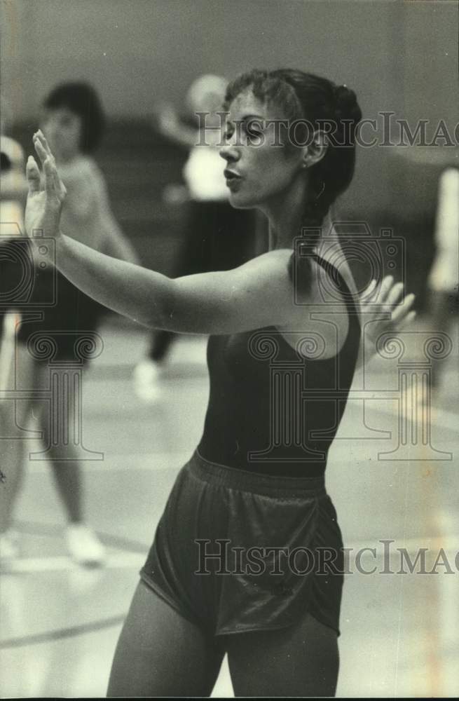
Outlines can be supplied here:
<path id="1" fill-rule="evenodd" d="M 226 640 L 235 696 L 334 696 L 336 632 L 309 613 L 281 630 L 234 634 Z"/>

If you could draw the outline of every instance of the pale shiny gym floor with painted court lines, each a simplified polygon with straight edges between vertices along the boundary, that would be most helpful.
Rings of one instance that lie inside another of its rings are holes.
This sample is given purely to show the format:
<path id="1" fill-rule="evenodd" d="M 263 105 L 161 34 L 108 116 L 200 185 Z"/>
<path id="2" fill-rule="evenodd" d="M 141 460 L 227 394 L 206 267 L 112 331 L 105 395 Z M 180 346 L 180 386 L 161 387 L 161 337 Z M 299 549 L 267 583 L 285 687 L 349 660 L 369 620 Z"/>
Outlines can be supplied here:
<path id="1" fill-rule="evenodd" d="M 186 336 L 174 344 L 160 400 L 143 404 L 132 371 L 146 352 L 147 333 L 109 319 L 101 334 L 104 351 L 83 383 L 83 444 L 103 453 L 102 460 L 85 461 L 84 470 L 88 522 L 107 547 L 107 563 L 85 569 L 67 557 L 50 470 L 45 461 L 29 461 L 16 510 L 20 557 L 4 564 L 0 579 L 2 697 L 105 695 L 138 571 L 174 477 L 200 438 L 208 392 L 205 339 Z M 327 467 L 327 490 L 352 548 L 337 695 L 455 696 L 457 350 L 444 362 L 430 440 L 416 442 L 411 433 L 411 447 L 399 446 L 397 438 L 403 404 L 393 390 L 397 361 L 383 362 L 371 361 L 365 395 L 356 378 Z M 32 437 L 30 451 L 38 449 Z M 405 548 L 411 562 L 424 552 L 425 568 L 410 573 L 397 548 Z M 213 696 L 231 695 L 224 662 Z"/>

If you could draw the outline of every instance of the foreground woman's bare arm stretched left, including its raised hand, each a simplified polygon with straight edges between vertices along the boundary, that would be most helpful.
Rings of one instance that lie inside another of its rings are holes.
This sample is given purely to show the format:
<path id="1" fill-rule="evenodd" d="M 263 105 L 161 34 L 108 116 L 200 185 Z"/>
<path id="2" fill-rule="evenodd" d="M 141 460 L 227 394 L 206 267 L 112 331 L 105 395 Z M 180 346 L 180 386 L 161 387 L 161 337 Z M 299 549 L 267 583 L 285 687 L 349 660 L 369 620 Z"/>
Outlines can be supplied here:
<path id="1" fill-rule="evenodd" d="M 64 236 L 60 212 L 66 189 L 41 132 L 34 136 L 34 146 L 43 163 L 45 189 L 30 157 L 26 231 L 32 238 L 55 238 L 57 268 L 96 301 L 149 327 L 195 334 L 283 325 L 295 311 L 287 272 L 289 250 L 263 254 L 231 271 L 172 279 Z M 40 238 L 35 243 L 40 245 Z"/>

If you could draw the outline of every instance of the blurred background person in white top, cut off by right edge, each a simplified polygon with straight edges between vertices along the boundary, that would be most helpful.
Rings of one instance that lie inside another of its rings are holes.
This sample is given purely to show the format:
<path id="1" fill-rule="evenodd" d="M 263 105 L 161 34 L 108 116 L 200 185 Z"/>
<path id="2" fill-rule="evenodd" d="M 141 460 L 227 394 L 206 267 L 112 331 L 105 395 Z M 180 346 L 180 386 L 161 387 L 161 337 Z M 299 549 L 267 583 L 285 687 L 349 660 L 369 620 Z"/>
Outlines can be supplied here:
<path id="1" fill-rule="evenodd" d="M 459 312 L 459 170 L 446 168 L 439 178 L 434 240 L 436 252 L 428 278 L 429 311 L 435 331 L 448 333 Z M 444 362 L 432 367 L 432 390 L 439 390 Z"/>

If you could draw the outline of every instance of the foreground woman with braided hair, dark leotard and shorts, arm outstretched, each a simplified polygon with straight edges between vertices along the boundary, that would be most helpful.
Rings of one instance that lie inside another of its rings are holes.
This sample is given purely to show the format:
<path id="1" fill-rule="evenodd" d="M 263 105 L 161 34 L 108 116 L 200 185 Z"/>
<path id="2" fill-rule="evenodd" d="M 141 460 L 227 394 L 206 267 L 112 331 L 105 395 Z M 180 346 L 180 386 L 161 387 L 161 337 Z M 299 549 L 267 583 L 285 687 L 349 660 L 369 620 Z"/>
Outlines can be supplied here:
<path id="1" fill-rule="evenodd" d="M 203 437 L 142 569 L 111 696 L 210 695 L 225 652 L 235 695 L 336 690 L 342 541 L 324 470 L 360 325 L 339 240 L 320 224 L 352 179 L 361 113 L 352 90 L 293 70 L 240 76 L 226 109 L 230 201 L 270 224 L 268 252 L 231 271 L 170 279 L 90 250 L 65 236 L 40 132 L 44 192 L 27 165 L 27 231 L 56 237 L 71 282 L 150 327 L 210 334 Z"/>

